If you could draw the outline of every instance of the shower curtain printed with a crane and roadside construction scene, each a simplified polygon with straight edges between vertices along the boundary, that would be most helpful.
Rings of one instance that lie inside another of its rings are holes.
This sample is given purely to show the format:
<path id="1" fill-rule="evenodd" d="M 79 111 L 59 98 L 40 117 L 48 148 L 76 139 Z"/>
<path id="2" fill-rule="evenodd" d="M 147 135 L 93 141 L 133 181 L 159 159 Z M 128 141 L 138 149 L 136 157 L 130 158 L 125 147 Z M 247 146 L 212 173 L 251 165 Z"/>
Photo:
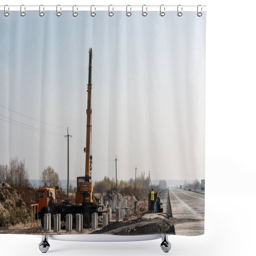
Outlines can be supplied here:
<path id="1" fill-rule="evenodd" d="M 202 235 L 206 12 L 94 12 L 1 11 L 0 233 Z"/>

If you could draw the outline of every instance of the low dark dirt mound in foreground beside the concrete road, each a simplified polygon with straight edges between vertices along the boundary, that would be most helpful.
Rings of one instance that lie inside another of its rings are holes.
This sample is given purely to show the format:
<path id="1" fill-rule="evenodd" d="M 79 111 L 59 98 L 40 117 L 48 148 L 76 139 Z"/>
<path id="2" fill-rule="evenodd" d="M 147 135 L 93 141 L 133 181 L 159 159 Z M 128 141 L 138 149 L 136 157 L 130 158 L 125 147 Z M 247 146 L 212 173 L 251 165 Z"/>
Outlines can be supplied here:
<path id="1" fill-rule="evenodd" d="M 171 220 L 155 219 L 137 219 L 127 222 L 117 221 L 94 231 L 93 234 L 111 234 L 111 235 L 152 235 L 152 234 L 174 234 L 174 224 Z"/>

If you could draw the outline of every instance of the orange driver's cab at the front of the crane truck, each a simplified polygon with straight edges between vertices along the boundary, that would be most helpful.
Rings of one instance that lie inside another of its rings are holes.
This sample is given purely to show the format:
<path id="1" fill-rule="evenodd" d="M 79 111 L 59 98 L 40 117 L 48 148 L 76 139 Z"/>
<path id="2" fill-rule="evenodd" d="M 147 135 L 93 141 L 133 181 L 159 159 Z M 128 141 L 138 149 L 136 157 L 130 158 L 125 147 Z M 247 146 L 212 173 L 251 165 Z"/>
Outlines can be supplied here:
<path id="1" fill-rule="evenodd" d="M 44 207 L 47 208 L 51 198 L 55 202 L 54 188 L 39 188 L 36 193 L 36 204 L 38 204 L 38 217 L 41 218 L 41 211 Z M 45 209 L 45 208 L 44 208 Z"/>

